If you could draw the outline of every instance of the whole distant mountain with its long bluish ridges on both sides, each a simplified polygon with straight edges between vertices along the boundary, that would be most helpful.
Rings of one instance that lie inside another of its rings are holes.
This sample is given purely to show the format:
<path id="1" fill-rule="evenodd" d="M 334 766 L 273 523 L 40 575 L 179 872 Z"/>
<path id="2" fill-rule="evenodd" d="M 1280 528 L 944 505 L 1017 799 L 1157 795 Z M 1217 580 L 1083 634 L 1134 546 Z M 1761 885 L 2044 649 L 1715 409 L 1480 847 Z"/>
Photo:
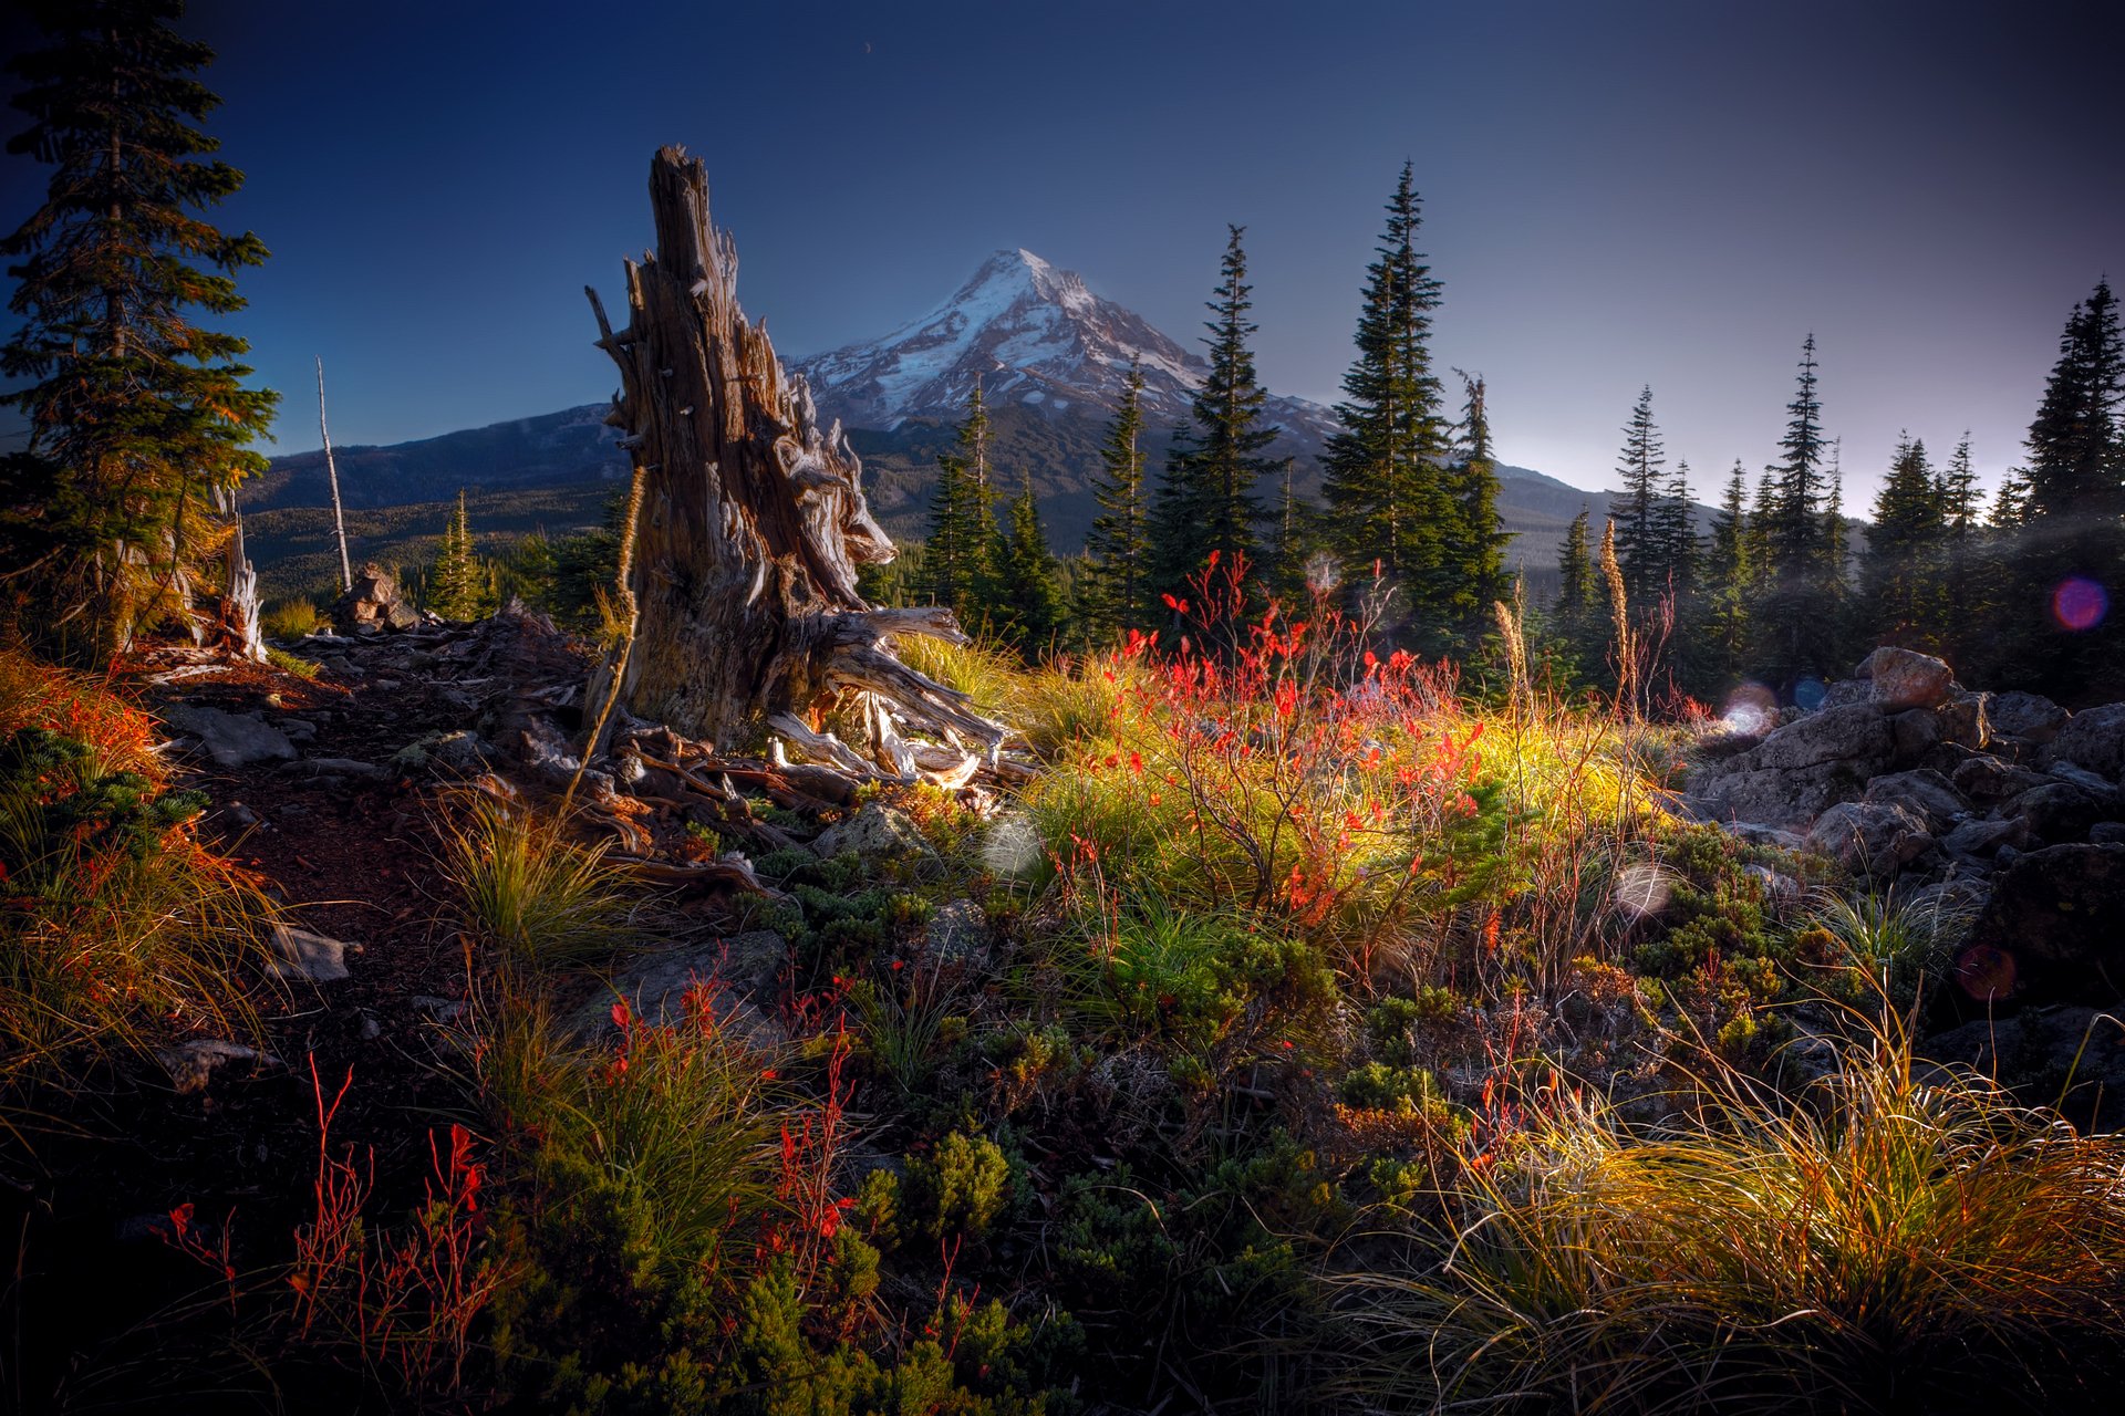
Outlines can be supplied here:
<path id="1" fill-rule="evenodd" d="M 997 251 L 950 297 L 888 335 L 790 361 L 812 384 L 822 418 L 848 429 L 871 505 L 899 539 L 922 535 L 937 454 L 952 444 L 980 378 L 999 478 L 1005 490 L 1031 478 L 1060 552 L 1084 543 L 1096 514 L 1099 448 L 1130 365 L 1143 372 L 1145 454 L 1156 473 L 1173 429 L 1190 416 L 1207 363 L 1094 295 L 1073 272 L 1022 248 Z M 591 488 L 616 490 L 627 480 L 618 429 L 606 427 L 606 403 L 582 403 L 416 442 L 336 448 L 340 493 L 348 510 L 385 510 L 440 507 L 468 488 L 491 514 L 518 497 L 527 507 L 567 505 L 595 520 L 589 507 L 599 497 Z M 1318 497 L 1320 454 L 1339 427 L 1332 410 L 1271 395 L 1264 416 L 1279 429 L 1269 456 L 1292 459 L 1294 490 Z M 1264 505 L 1279 493 L 1273 480 L 1258 488 Z M 578 495 L 557 503 L 546 495 L 557 488 Z M 1500 467 L 1498 516 L 1515 533 L 1509 560 L 1541 584 L 1553 573 L 1564 526 L 1581 505 L 1598 516 L 1604 499 L 1526 467 Z M 323 452 L 272 459 L 272 469 L 244 490 L 255 512 L 329 501 Z M 1704 514 L 1708 507 L 1700 507 Z M 552 533 L 574 529 L 542 524 Z"/>

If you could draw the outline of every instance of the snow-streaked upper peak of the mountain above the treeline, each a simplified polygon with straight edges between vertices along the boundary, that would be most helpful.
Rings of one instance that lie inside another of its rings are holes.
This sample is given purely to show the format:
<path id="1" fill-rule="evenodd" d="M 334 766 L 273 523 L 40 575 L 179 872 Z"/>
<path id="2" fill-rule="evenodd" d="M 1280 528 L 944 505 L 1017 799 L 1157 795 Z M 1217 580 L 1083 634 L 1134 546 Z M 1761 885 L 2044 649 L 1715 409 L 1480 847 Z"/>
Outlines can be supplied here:
<path id="1" fill-rule="evenodd" d="M 1143 369 L 1154 425 L 1188 416 L 1209 365 L 1133 310 L 1094 295 L 1069 270 L 1031 251 L 999 251 L 958 291 L 880 340 L 793 361 L 827 416 L 848 427 L 897 429 L 907 418 L 956 422 L 982 380 L 990 410 L 1024 405 L 1105 418 L 1128 365 Z M 1271 397 L 1266 420 L 1309 450 L 1334 414 L 1307 399 Z"/>

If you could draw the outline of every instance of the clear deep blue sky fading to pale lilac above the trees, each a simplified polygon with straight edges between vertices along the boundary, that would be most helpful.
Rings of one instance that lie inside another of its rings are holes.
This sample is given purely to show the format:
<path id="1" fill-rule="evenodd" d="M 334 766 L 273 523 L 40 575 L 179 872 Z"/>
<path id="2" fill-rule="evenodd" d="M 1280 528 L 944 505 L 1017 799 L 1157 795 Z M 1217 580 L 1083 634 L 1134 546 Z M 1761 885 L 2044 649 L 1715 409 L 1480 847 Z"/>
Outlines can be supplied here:
<path id="1" fill-rule="evenodd" d="M 474 4 L 196 0 L 238 329 L 278 452 L 604 399 L 582 284 L 708 161 L 778 348 L 873 338 L 1026 246 L 1175 338 L 1247 225 L 1262 378 L 1332 401 L 1402 159 L 1434 352 L 1504 461 L 1611 482 L 1640 384 L 1711 499 L 1774 456 L 1813 329 L 1849 507 L 1900 429 L 1987 484 L 2057 338 L 2125 280 L 2125 6 L 1590 0 Z M 19 45 L 19 19 L 0 38 Z M 4 115 L 8 132 L 19 123 Z M 45 170 L 6 159 L 0 223 Z"/>

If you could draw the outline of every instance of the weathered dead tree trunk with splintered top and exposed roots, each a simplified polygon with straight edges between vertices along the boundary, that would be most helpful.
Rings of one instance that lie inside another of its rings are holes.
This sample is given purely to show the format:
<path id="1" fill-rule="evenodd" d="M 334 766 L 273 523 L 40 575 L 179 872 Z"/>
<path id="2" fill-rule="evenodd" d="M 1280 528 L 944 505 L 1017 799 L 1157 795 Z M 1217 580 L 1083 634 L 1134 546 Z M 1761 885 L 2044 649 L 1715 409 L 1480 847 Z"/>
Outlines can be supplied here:
<path id="1" fill-rule="evenodd" d="M 650 208 L 657 253 L 627 263 L 627 327 L 589 291 L 620 367 L 610 422 L 642 482 L 629 711 L 718 747 L 767 724 L 801 756 L 905 779 L 994 760 L 1003 726 L 892 654 L 895 635 L 963 643 L 952 614 L 856 592 L 856 567 L 892 560 L 892 541 L 842 425 L 818 427 L 810 388 L 737 308 L 737 248 L 710 225 L 701 161 L 661 149 Z M 863 752 L 818 730 L 837 703 L 861 703 Z M 956 752 L 946 762 L 903 732 Z"/>

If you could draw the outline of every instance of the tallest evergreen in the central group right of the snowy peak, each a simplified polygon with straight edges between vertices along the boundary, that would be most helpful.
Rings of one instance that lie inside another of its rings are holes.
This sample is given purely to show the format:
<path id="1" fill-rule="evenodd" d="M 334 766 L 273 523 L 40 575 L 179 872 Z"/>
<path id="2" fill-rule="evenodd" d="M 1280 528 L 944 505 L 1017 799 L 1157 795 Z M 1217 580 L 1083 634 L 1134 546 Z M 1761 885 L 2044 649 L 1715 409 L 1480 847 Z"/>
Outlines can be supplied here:
<path id="1" fill-rule="evenodd" d="M 1324 493 L 1352 580 L 1377 563 L 1407 594 L 1420 624 L 1441 616 L 1451 577 L 1454 505 L 1445 486 L 1445 418 L 1432 376 L 1430 331 L 1439 280 L 1417 253 L 1422 202 L 1411 166 L 1388 200 L 1388 227 L 1366 267 L 1358 357 L 1343 376 L 1328 439 Z"/>

